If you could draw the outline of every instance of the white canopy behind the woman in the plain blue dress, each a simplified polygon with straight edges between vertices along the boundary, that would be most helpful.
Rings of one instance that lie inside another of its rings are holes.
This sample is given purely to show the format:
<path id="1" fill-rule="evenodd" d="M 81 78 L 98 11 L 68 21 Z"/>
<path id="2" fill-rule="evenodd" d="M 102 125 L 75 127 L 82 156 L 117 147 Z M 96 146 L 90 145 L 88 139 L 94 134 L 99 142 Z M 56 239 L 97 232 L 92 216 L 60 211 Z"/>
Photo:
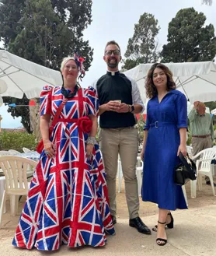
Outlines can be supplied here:
<path id="1" fill-rule="evenodd" d="M 164 63 L 173 74 L 176 88 L 185 94 L 190 103 L 216 100 L 216 65 L 212 61 Z M 141 98 L 146 103 L 145 78 L 152 64 L 140 64 L 124 72 L 138 83 Z"/>

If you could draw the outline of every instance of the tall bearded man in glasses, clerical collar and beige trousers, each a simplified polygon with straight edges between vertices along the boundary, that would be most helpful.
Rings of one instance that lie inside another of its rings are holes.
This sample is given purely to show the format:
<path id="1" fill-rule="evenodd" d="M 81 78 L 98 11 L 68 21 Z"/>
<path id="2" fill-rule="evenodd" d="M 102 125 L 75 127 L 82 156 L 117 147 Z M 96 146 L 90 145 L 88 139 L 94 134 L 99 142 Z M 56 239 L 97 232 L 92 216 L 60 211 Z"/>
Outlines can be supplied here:
<path id="1" fill-rule="evenodd" d="M 120 154 L 130 216 L 129 225 L 137 228 L 141 233 L 151 234 L 151 230 L 138 215 L 136 177 L 138 130 L 134 128 L 136 123 L 134 114 L 141 113 L 144 105 L 137 83 L 118 71 L 121 56 L 120 47 L 115 41 L 106 44 L 103 59 L 106 61 L 107 72 L 94 83 L 94 87 L 99 96 L 100 147 L 103 153 L 113 223 L 117 223 L 116 177 Z"/>

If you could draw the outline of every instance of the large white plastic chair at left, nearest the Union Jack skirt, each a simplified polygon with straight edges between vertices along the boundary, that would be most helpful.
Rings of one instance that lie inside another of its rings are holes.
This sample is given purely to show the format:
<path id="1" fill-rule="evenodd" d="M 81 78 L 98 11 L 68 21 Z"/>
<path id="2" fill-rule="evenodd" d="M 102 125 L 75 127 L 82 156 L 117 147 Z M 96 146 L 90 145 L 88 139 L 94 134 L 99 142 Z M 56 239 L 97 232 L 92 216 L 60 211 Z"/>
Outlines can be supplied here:
<path id="1" fill-rule="evenodd" d="M 11 215 L 15 216 L 18 209 L 18 199 L 20 195 L 27 195 L 29 185 L 27 181 L 27 170 L 37 167 L 37 163 L 20 156 L 0 156 L 0 167 L 5 174 L 5 191 L 2 197 L 0 208 L 0 225 L 2 222 L 2 212 L 5 209 L 7 195 L 10 196 Z"/>

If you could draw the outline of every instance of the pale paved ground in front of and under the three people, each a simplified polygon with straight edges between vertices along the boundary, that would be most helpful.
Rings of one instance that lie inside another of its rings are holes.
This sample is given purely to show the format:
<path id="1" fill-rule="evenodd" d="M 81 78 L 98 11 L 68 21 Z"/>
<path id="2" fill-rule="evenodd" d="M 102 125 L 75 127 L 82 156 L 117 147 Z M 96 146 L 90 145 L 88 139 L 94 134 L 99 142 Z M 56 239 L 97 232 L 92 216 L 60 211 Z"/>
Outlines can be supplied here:
<path id="1" fill-rule="evenodd" d="M 40 252 L 36 249 L 28 251 L 12 247 L 12 237 L 8 237 L 2 238 L 0 251 L 2 256 L 216 256 L 216 205 L 174 212 L 173 216 L 175 227 L 167 230 L 169 243 L 165 247 L 159 247 L 155 243 L 155 233 L 152 236 L 143 235 L 128 226 L 127 219 L 117 219 L 117 234 L 108 237 L 106 247 L 71 249 L 64 245 L 56 252 Z M 152 227 L 157 216 L 146 216 L 142 219 Z"/>

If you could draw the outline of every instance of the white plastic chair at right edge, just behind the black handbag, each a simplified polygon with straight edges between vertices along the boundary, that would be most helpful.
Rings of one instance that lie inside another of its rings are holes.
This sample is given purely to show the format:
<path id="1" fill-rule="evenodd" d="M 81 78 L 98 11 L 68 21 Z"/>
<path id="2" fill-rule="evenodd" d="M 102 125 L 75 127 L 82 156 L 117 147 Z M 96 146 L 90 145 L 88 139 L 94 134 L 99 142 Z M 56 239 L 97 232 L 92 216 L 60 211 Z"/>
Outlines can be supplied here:
<path id="1" fill-rule="evenodd" d="M 212 174 L 213 165 L 211 164 L 211 161 L 216 159 L 216 151 L 213 148 L 204 149 L 199 153 L 197 153 L 196 156 L 193 156 L 192 159 L 196 160 L 198 156 L 200 156 L 200 159 L 196 161 L 197 180 L 190 181 L 191 198 L 197 197 L 197 183 L 198 183 L 199 190 L 200 191 L 202 190 L 202 175 L 209 177 L 213 195 L 216 196 L 214 191 L 214 181 L 213 181 L 213 174 Z"/>

